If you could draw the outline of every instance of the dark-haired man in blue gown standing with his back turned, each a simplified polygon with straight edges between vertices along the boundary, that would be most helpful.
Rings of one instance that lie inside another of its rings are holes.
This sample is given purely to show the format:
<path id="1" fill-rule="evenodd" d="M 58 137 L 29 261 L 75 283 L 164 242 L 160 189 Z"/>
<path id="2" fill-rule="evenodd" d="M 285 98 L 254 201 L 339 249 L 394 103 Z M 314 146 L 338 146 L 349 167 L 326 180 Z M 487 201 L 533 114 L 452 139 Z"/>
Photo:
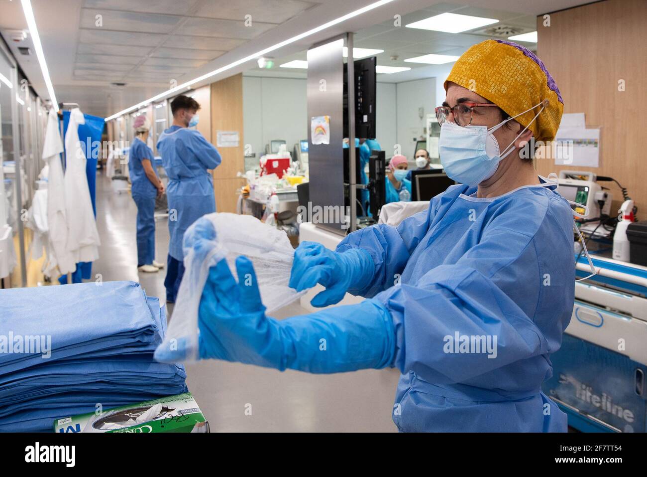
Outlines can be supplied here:
<path id="1" fill-rule="evenodd" d="M 214 180 L 208 169 L 215 169 L 221 157 L 214 145 L 193 128 L 197 126 L 198 102 L 180 95 L 171 101 L 173 124 L 162 132 L 157 150 L 168 175 L 168 270 L 164 286 L 166 301 L 175 303 L 182 275 L 184 253 L 182 237 L 186 229 L 204 214 L 215 212 Z"/>

